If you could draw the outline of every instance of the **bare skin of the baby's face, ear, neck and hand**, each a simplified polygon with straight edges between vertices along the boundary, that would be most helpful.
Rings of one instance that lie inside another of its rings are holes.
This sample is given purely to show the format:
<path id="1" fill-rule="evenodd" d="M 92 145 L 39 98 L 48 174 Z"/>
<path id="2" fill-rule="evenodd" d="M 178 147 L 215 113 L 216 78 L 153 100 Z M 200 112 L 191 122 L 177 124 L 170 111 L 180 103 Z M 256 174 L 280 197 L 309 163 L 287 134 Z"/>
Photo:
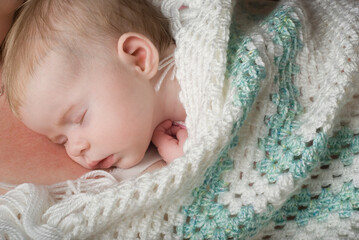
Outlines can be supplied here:
<path id="1" fill-rule="evenodd" d="M 106 43 L 85 46 L 76 56 L 60 48 L 44 58 L 25 89 L 23 123 L 88 169 L 133 167 L 152 138 L 167 163 L 183 155 L 187 131 L 168 121 L 185 120 L 180 87 L 166 79 L 154 90 L 161 72 L 152 42 L 126 33 L 112 53 Z"/>

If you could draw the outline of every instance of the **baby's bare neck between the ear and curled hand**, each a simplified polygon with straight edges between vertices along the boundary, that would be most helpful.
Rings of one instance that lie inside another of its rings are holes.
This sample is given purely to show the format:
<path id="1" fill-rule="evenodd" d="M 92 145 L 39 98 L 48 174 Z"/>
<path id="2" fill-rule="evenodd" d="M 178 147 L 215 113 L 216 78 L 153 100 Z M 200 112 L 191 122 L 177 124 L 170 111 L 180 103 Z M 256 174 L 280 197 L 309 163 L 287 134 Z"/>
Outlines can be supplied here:
<path id="1" fill-rule="evenodd" d="M 171 46 L 168 51 L 163 55 L 163 58 L 171 55 L 174 52 L 175 46 Z M 159 70 L 154 78 L 154 84 L 156 84 L 163 73 L 166 71 L 166 67 Z M 179 100 L 179 93 L 181 91 L 181 87 L 174 77 L 172 79 L 173 71 L 175 71 L 175 67 L 172 67 L 166 76 L 163 79 L 163 82 L 156 93 L 157 95 L 157 110 L 158 112 L 155 113 L 157 119 L 157 124 L 165 120 L 172 120 L 172 121 L 184 121 L 186 119 L 186 111 Z"/>

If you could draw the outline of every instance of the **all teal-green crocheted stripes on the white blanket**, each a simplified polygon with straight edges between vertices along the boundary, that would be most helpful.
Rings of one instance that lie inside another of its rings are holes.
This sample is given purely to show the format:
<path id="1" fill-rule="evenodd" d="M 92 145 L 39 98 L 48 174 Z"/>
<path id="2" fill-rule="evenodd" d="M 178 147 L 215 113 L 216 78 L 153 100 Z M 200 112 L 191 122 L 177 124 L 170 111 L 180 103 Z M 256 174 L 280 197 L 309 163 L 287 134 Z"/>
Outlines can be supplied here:
<path id="1" fill-rule="evenodd" d="M 292 82 L 299 72 L 295 57 L 302 48 L 302 42 L 299 38 L 301 24 L 292 17 L 292 13 L 291 8 L 279 7 L 262 23 L 262 27 L 273 34 L 273 42 L 283 48 L 282 55 L 274 59 L 278 67 L 275 83 L 279 91 L 271 94 L 271 101 L 277 105 L 277 113 L 265 118 L 269 134 L 259 140 L 259 148 L 266 152 L 266 157 L 257 163 L 256 168 L 271 183 L 287 172 L 295 180 L 304 179 L 315 167 L 327 168 L 333 159 L 350 165 L 354 154 L 359 152 L 359 136 L 354 136 L 347 127 L 330 138 L 318 129 L 310 142 L 304 142 L 300 136 L 293 134 L 293 130 L 299 126 L 295 119 L 302 112 L 296 100 L 299 92 Z M 233 126 L 230 143 L 207 170 L 202 186 L 193 191 L 193 203 L 182 207 L 186 221 L 176 228 L 177 234 L 184 239 L 246 239 L 254 236 L 270 221 L 275 222 L 276 229 L 282 229 L 289 220 L 303 226 L 310 218 L 324 221 L 333 212 L 338 212 L 340 217 L 350 217 L 359 206 L 358 189 L 351 182 L 344 183 L 337 194 L 330 191 L 330 186 L 322 188 L 317 196 L 312 196 L 303 188 L 281 209 L 276 211 L 268 204 L 266 211 L 260 214 L 248 205 L 231 215 L 228 208 L 217 201 L 220 194 L 229 191 L 229 184 L 222 179 L 226 171 L 233 170 L 233 160 L 228 152 L 238 146 L 238 131 L 266 77 L 265 68 L 256 64 L 259 51 L 253 49 L 249 37 L 241 34 L 235 17 L 231 25 L 226 77 L 232 79 L 232 86 L 237 91 L 233 104 L 242 108 L 243 112 Z"/>

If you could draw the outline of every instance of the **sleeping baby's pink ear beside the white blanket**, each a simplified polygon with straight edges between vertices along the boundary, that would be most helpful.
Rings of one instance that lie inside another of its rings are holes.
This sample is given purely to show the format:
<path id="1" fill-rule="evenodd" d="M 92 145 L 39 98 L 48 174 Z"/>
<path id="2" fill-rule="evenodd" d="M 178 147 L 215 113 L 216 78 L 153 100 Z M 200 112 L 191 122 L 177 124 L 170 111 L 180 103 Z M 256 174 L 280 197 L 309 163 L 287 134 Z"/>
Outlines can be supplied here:
<path id="1" fill-rule="evenodd" d="M 136 71 L 149 79 L 158 70 L 159 53 L 153 43 L 144 35 L 134 32 L 122 34 L 117 45 L 118 56 Z"/>

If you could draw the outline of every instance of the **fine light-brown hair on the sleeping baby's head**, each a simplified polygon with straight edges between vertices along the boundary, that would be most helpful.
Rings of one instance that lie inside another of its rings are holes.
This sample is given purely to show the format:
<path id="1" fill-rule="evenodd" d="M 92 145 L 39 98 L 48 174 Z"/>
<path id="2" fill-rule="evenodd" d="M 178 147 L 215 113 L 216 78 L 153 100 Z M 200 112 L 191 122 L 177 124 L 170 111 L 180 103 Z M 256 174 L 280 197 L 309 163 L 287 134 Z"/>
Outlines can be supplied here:
<path id="1" fill-rule="evenodd" d="M 3 84 L 19 117 L 24 89 L 34 68 L 56 46 L 76 48 L 79 39 L 96 43 L 138 32 L 163 52 L 173 39 L 168 19 L 146 0 L 28 0 L 8 33 Z"/>

